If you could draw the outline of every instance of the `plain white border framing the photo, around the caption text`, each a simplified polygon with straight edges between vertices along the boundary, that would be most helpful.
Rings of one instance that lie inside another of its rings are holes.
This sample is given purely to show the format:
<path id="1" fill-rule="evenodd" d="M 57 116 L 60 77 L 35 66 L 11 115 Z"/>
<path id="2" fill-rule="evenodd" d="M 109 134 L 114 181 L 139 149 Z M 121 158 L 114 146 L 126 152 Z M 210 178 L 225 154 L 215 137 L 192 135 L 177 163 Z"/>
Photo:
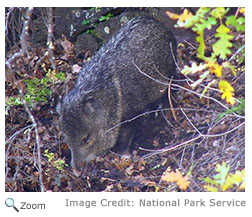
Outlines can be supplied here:
<path id="1" fill-rule="evenodd" d="M 157 215 L 164 215 L 164 216 L 248 216 L 247 214 L 251 202 L 252 197 L 249 197 L 249 193 L 251 193 L 251 136 L 250 129 L 251 129 L 251 119 L 249 115 L 249 111 L 251 109 L 250 105 L 250 93 L 251 87 L 250 81 L 251 80 L 251 7 L 249 5 L 250 1 L 245 0 L 221 0 L 221 1 L 205 1 L 205 0 L 180 0 L 180 1 L 150 1 L 150 0 L 139 0 L 139 1 L 82 1 L 82 0 L 57 0 L 57 1 L 18 1 L 12 0 L 9 2 L 1 1 L 1 42 L 2 42 L 2 52 L 1 52 L 1 91 L 0 91 L 0 99 L 1 99 L 1 108 L 2 108 L 2 119 L 1 119 L 1 133 L 0 133 L 0 141 L 2 144 L 2 149 L 0 151 L 0 162 L 1 162 L 1 170 L 0 170 L 0 210 L 3 212 L 3 216 L 135 216 L 135 215 L 142 215 L 142 216 L 157 216 Z M 212 7 L 220 7 L 220 6 L 229 6 L 229 7 L 236 7 L 236 6 L 245 6 L 246 7 L 246 192 L 245 193 L 11 193 L 5 192 L 5 166 L 4 166 L 4 159 L 5 159 L 5 148 L 4 148 L 4 72 L 5 72 L 5 64 L 4 64 L 4 7 L 9 6 L 44 6 L 44 7 L 90 7 L 90 6 L 99 6 L 99 7 L 108 7 L 108 6 L 131 6 L 131 7 L 200 7 L 200 6 L 212 6 Z M 250 60 L 250 61 L 248 61 Z M 249 133 L 248 133 L 249 132 Z M 47 209 L 45 211 L 41 210 L 22 210 L 22 212 L 16 213 L 12 208 L 7 208 L 4 204 L 4 201 L 8 197 L 15 198 L 16 203 L 21 201 L 27 201 L 31 203 L 46 203 Z M 186 208 L 67 208 L 64 206 L 64 201 L 66 198 L 72 200 L 97 200 L 99 201 L 101 198 L 107 198 L 109 200 L 120 200 L 121 198 L 128 198 L 130 200 L 138 201 L 139 198 L 158 198 L 160 200 L 175 200 L 180 198 L 181 201 L 185 198 L 192 199 L 192 200 L 209 200 L 210 198 L 216 198 L 219 200 L 246 200 L 247 207 L 246 208 L 204 208 L 204 207 L 192 207 Z M 2 216 L 2 213 L 0 214 Z"/>

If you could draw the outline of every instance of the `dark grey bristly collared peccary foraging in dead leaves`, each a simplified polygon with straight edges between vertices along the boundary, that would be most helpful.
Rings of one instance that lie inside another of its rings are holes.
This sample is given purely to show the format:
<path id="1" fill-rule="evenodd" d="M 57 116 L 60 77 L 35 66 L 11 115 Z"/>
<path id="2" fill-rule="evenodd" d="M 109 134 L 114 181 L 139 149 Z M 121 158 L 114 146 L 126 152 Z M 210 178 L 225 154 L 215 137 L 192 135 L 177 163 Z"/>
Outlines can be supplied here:
<path id="1" fill-rule="evenodd" d="M 120 123 L 162 97 L 166 86 L 154 79 L 175 75 L 175 56 L 173 34 L 144 16 L 125 24 L 83 66 L 60 108 L 74 169 L 104 155 L 123 131 Z"/>

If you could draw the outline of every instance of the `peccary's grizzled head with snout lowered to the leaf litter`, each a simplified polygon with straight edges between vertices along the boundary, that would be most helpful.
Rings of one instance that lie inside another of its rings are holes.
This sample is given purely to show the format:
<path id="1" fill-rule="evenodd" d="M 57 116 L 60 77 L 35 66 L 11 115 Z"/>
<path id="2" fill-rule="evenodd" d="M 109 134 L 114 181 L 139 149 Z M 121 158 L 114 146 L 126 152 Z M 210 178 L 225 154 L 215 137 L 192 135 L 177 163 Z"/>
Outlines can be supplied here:
<path id="1" fill-rule="evenodd" d="M 114 145 L 110 145 L 107 139 L 116 137 L 115 131 L 106 133 L 106 109 L 91 94 L 80 94 L 79 91 L 78 87 L 72 89 L 58 108 L 61 129 L 71 149 L 71 164 L 75 171 L 84 162 L 106 153 Z"/>

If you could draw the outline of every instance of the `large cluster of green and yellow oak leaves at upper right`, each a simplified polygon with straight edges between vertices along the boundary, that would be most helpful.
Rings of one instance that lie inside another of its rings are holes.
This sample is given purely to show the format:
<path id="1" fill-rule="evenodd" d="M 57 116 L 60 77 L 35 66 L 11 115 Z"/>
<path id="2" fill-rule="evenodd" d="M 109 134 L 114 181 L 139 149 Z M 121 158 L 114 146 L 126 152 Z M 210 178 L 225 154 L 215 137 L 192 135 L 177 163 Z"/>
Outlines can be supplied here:
<path id="1" fill-rule="evenodd" d="M 202 96 L 210 86 L 218 82 L 222 99 L 225 99 L 230 104 L 234 104 L 234 88 L 225 80 L 223 71 L 228 69 L 236 76 L 235 67 L 228 60 L 228 55 L 232 53 L 231 48 L 234 47 L 232 28 L 237 32 L 245 32 L 245 9 L 240 8 L 237 15 L 226 15 L 228 11 L 229 8 L 224 7 L 201 7 L 195 15 L 188 12 L 187 9 L 180 15 L 169 11 L 167 11 L 167 14 L 172 19 L 177 20 L 178 27 L 190 28 L 197 34 L 197 56 L 202 62 L 199 65 L 194 62 L 191 66 L 185 66 L 182 70 L 182 73 L 185 75 L 200 74 L 200 78 L 192 84 L 192 87 L 196 88 L 206 78 L 209 78 L 210 74 L 214 74 L 217 79 L 210 79 L 210 82 L 208 82 L 208 85 L 202 92 Z M 213 26 L 216 26 L 215 42 L 212 43 L 211 53 L 206 54 L 204 33 L 206 29 L 211 29 Z M 241 48 L 244 49 L 244 47 Z M 221 60 L 222 64 L 219 64 L 217 60 Z"/>

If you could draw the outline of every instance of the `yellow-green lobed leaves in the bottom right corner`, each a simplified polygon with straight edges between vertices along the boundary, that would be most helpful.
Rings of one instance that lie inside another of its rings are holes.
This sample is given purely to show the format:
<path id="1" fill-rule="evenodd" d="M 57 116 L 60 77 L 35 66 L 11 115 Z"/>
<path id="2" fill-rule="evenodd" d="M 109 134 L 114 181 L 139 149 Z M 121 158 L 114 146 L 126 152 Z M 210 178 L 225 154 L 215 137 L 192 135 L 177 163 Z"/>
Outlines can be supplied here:
<path id="1" fill-rule="evenodd" d="M 203 187 L 207 191 L 219 192 L 219 191 L 242 191 L 245 190 L 245 169 L 235 173 L 229 173 L 230 166 L 226 165 L 225 162 L 222 164 L 217 164 L 216 172 L 217 174 L 210 177 L 204 178 L 206 183 Z"/>

